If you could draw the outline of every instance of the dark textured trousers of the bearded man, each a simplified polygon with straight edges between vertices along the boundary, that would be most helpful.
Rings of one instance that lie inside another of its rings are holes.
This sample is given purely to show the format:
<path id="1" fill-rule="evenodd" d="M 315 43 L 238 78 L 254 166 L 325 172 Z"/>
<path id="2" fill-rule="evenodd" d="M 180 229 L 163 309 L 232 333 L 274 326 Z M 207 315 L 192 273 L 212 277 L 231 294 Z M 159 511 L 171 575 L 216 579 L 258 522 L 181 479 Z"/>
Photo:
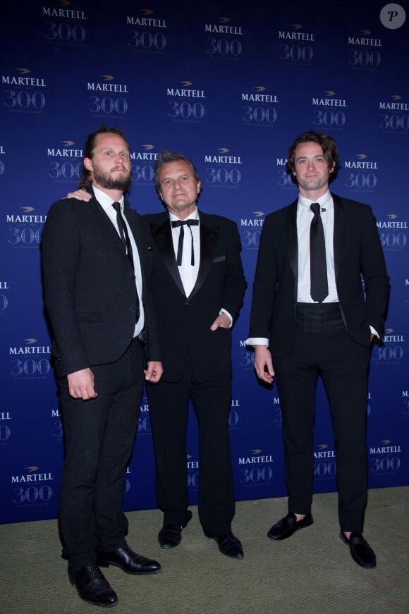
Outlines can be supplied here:
<path id="1" fill-rule="evenodd" d="M 123 488 L 138 426 L 143 361 L 134 339 L 120 360 L 92 366 L 98 393 L 92 400 L 72 398 L 67 379 L 59 380 L 66 445 L 59 521 L 75 568 L 94 563 L 97 549 L 125 544 Z"/>

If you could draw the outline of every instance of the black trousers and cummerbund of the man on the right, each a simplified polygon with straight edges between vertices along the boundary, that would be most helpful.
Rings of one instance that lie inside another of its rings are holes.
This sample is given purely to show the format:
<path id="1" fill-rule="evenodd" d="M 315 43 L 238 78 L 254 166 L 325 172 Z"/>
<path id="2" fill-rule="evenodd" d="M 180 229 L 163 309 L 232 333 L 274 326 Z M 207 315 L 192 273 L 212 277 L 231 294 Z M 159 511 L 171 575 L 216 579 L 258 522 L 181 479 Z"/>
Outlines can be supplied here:
<path id="1" fill-rule="evenodd" d="M 298 311 L 291 354 L 273 357 L 273 362 L 283 419 L 288 511 L 311 511 L 315 391 L 322 376 L 334 429 L 339 522 L 343 531 L 361 532 L 367 501 L 369 349 L 348 336 L 338 304 L 307 305 Z"/>

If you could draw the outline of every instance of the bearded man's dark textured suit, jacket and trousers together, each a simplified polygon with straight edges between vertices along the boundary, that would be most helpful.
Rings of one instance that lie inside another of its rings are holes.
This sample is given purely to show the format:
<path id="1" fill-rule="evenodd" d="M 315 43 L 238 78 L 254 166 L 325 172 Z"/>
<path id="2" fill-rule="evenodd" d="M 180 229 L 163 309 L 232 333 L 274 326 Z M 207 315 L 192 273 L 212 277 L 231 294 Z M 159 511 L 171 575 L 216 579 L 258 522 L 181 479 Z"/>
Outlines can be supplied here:
<path id="1" fill-rule="evenodd" d="M 125 202 L 142 269 L 145 351 L 134 338 L 135 276 L 121 238 L 92 188 L 90 202 L 62 199 L 49 209 L 42 233 L 44 302 L 53 333 L 66 456 L 59 505 L 66 554 L 75 569 L 95 563 L 98 550 L 125 544 L 122 510 L 146 361 L 160 361 L 149 294 L 152 238 Z M 97 398 L 73 398 L 67 375 L 90 368 Z"/>

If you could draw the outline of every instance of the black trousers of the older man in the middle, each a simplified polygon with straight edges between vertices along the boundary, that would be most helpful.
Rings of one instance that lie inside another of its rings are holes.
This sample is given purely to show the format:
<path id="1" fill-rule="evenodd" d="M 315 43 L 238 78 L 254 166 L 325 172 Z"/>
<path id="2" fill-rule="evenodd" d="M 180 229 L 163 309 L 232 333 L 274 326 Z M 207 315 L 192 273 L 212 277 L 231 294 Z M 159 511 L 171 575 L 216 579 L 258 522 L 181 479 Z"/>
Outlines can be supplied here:
<path id="1" fill-rule="evenodd" d="M 186 428 L 189 399 L 199 426 L 199 517 L 207 536 L 231 531 L 235 512 L 233 472 L 228 438 L 231 378 L 199 382 L 187 356 L 181 380 L 147 385 L 157 471 L 157 501 L 165 524 L 186 524 L 188 465 Z"/>

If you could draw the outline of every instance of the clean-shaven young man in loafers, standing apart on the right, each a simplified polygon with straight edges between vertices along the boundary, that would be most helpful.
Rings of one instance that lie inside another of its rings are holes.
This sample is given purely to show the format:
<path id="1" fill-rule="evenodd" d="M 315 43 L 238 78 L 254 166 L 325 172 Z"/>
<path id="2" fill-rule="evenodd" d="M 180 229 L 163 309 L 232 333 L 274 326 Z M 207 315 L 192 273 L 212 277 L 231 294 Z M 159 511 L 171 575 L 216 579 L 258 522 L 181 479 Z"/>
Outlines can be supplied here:
<path id="1" fill-rule="evenodd" d="M 288 515 L 269 538 L 286 539 L 312 524 L 321 375 L 334 425 L 341 539 L 356 563 L 374 567 L 374 551 L 362 537 L 367 369 L 370 344 L 384 326 L 389 278 L 370 207 L 329 191 L 337 168 L 331 137 L 307 132 L 291 145 L 287 171 L 298 199 L 265 219 L 247 343 L 255 347 L 257 376 L 270 384 L 277 378 L 283 418 Z"/>

